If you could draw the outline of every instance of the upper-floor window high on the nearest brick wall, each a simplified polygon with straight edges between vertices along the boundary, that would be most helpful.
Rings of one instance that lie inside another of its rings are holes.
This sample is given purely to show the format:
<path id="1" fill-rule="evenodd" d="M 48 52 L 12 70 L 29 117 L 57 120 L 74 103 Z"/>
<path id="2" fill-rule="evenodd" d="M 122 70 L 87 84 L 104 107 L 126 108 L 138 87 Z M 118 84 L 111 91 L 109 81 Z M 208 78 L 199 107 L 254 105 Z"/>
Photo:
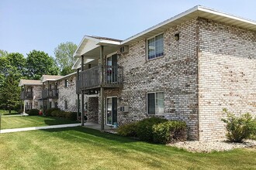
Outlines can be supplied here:
<path id="1" fill-rule="evenodd" d="M 164 36 L 163 34 L 154 36 L 147 40 L 147 59 L 154 59 L 164 55 Z"/>

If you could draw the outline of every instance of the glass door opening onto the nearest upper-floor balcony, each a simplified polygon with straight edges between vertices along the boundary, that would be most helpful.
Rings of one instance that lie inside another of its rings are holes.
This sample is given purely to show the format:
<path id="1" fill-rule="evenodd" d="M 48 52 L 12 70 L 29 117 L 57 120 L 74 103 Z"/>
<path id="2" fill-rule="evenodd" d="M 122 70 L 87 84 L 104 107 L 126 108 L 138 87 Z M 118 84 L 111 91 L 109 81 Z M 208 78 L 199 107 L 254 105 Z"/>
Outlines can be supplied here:
<path id="1" fill-rule="evenodd" d="M 107 82 L 116 83 L 117 81 L 117 54 L 107 58 Z"/>

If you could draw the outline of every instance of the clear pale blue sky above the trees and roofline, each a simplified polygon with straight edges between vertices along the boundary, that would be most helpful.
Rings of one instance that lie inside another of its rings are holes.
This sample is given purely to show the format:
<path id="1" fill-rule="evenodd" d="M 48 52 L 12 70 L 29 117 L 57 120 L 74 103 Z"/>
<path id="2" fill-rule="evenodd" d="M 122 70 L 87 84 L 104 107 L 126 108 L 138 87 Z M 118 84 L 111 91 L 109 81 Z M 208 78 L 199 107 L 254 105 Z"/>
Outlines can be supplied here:
<path id="1" fill-rule="evenodd" d="M 256 21 L 255 0 L 0 0 L 0 49 L 54 56 L 61 42 L 126 39 L 195 5 Z"/>

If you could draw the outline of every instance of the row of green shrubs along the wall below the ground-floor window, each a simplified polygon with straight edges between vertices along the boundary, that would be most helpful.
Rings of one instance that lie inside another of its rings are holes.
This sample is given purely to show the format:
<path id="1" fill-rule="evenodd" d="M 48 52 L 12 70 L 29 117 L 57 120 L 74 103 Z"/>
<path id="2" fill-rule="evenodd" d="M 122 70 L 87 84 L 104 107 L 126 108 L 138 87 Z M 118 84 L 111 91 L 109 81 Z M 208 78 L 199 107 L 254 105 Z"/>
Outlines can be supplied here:
<path id="1" fill-rule="evenodd" d="M 167 144 L 171 141 L 185 141 L 186 124 L 183 121 L 168 121 L 159 117 L 150 117 L 142 121 L 124 124 L 117 134 L 138 137 L 141 141 Z"/>

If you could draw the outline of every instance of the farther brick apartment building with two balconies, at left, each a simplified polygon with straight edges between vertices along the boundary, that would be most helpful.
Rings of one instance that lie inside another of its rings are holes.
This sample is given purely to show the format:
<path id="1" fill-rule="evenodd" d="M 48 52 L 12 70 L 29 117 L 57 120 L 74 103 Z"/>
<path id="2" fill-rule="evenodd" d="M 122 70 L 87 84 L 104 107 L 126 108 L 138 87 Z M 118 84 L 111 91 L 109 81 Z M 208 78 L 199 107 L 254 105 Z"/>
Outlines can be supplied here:
<path id="1" fill-rule="evenodd" d="M 76 73 L 67 76 L 43 75 L 40 80 L 20 80 L 25 110 L 49 108 L 76 111 Z"/>

